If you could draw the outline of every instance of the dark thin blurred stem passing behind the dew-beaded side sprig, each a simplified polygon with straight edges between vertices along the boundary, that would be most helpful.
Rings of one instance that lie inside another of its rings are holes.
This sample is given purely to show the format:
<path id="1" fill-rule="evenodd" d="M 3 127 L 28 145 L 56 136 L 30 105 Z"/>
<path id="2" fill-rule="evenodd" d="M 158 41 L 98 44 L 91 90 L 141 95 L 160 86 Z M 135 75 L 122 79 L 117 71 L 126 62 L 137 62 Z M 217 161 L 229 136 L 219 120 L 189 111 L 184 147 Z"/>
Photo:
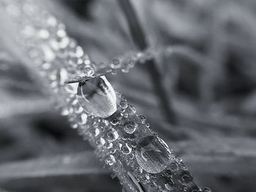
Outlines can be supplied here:
<path id="1" fill-rule="evenodd" d="M 143 28 L 140 26 L 135 9 L 133 9 L 131 2 L 129 0 L 118 0 L 118 4 L 127 20 L 133 42 L 139 50 L 146 50 L 148 47 L 146 35 L 144 34 Z M 176 116 L 171 107 L 170 92 L 165 89 L 165 85 L 162 82 L 162 74 L 157 67 L 156 61 L 154 61 L 154 59 L 147 61 L 144 66 L 148 70 L 149 74 L 151 74 L 154 91 L 157 93 L 159 104 L 161 104 L 161 109 L 163 110 L 166 120 L 171 124 L 177 124 Z"/>

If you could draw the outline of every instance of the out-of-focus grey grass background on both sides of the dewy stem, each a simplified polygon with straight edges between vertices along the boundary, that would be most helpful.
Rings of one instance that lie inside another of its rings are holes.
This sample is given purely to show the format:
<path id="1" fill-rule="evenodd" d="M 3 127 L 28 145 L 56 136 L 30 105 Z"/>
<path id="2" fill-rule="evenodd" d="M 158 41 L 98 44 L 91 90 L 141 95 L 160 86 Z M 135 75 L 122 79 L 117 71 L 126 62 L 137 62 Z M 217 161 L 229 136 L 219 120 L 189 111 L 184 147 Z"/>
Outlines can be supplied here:
<path id="1" fill-rule="evenodd" d="M 136 50 L 118 1 L 40 1 L 91 61 L 108 63 Z M 159 50 L 160 75 L 143 64 L 110 82 L 181 155 L 198 185 L 255 191 L 256 1 L 132 5 L 148 42 Z M 121 191 L 29 73 L 0 42 L 0 191 Z M 163 94 L 171 114 L 162 109 Z"/>

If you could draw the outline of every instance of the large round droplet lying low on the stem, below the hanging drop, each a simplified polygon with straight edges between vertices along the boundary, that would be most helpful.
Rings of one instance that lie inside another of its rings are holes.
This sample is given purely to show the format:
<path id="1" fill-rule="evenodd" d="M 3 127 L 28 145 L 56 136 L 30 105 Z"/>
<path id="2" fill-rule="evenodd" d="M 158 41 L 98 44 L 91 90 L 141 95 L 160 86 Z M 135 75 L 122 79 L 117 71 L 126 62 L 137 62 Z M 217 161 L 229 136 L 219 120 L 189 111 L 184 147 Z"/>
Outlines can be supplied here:
<path id="1" fill-rule="evenodd" d="M 146 172 L 162 172 L 170 164 L 170 150 L 159 137 L 148 136 L 140 140 L 136 147 L 135 157 Z"/>

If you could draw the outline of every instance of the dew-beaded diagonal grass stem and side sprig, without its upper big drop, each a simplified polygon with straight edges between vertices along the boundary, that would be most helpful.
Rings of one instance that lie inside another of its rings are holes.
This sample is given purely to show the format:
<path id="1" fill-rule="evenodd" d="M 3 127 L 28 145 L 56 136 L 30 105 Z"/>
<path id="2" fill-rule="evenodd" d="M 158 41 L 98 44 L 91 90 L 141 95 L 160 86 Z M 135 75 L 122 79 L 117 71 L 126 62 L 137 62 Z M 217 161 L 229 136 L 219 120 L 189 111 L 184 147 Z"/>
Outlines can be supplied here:
<path id="1" fill-rule="evenodd" d="M 181 158 L 121 93 L 116 92 L 116 112 L 102 118 L 88 114 L 81 106 L 76 96 L 78 83 L 64 83 L 69 77 L 93 76 L 99 69 L 113 74 L 116 70 L 129 72 L 135 63 L 151 59 L 151 50 L 129 53 L 108 65 L 92 64 L 83 49 L 67 36 L 64 24 L 34 1 L 6 0 L 3 7 L 20 31 L 16 41 L 34 64 L 31 67 L 37 67 L 45 85 L 48 82 L 55 93 L 61 115 L 67 116 L 72 128 L 90 142 L 127 191 L 211 191 L 195 185 Z"/>

